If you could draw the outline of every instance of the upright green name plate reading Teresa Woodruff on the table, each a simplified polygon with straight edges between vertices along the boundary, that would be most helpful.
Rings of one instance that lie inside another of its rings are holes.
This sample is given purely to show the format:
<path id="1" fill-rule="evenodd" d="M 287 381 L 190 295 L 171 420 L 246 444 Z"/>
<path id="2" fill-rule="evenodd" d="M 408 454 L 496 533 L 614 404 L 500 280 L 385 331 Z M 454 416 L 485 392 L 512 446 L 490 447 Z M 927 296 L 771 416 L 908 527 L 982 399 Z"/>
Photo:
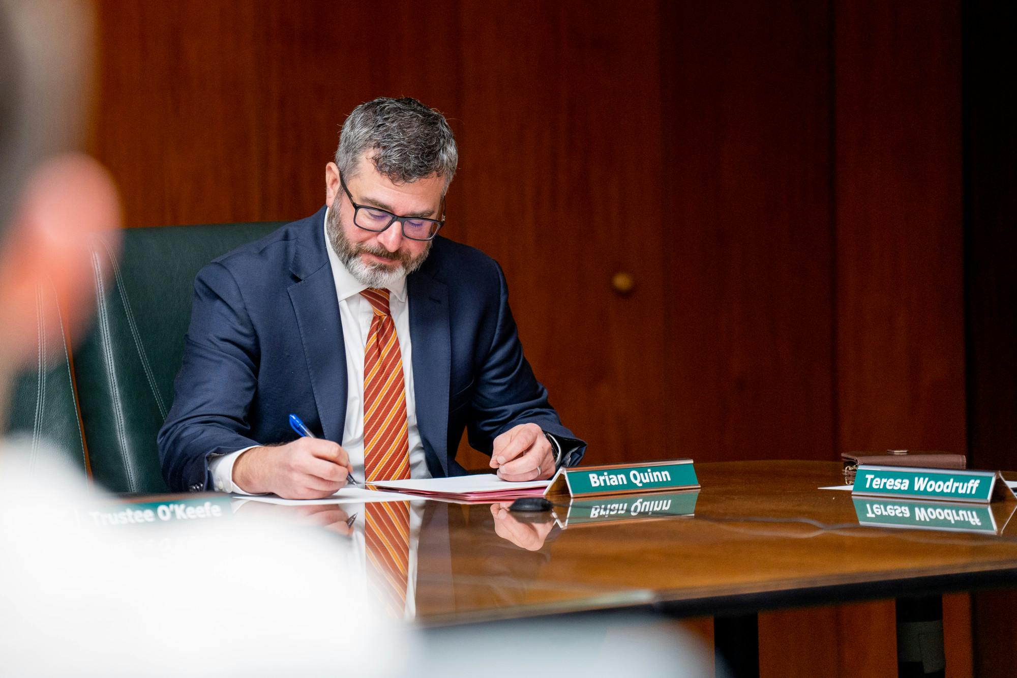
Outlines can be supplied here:
<path id="1" fill-rule="evenodd" d="M 999 471 L 858 466 L 853 495 L 988 504 L 1013 499 Z"/>

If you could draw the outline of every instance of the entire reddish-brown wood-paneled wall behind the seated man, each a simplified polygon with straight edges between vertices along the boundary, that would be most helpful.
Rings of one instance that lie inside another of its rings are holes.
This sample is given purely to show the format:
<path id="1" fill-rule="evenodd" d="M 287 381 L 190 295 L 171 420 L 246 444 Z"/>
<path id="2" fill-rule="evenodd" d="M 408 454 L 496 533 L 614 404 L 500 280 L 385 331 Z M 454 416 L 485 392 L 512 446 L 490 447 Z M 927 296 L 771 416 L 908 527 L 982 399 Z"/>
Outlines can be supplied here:
<path id="1" fill-rule="evenodd" d="M 957 0 L 97 2 L 129 226 L 306 216 L 345 114 L 414 96 L 590 460 L 965 450 Z M 768 675 L 893 670 L 889 605 L 761 633 Z"/>

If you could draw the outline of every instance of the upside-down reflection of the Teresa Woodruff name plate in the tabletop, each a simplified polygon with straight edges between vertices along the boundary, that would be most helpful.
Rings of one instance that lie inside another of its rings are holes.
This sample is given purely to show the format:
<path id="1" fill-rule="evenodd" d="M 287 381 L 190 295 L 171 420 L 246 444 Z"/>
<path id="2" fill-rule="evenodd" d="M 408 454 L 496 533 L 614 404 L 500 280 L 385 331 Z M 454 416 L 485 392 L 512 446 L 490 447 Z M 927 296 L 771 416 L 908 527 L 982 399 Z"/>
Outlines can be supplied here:
<path id="1" fill-rule="evenodd" d="M 996 517 L 988 504 L 912 502 L 855 497 L 858 523 L 879 527 L 912 527 L 956 532 L 998 531 Z"/>

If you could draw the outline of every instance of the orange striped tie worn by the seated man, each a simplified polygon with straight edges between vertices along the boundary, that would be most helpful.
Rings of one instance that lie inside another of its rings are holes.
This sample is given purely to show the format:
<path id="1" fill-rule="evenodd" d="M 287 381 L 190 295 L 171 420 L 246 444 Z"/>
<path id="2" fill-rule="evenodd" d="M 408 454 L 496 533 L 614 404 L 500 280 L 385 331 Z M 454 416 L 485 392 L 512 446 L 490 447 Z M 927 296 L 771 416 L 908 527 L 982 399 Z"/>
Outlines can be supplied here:
<path id="1" fill-rule="evenodd" d="M 371 481 L 410 477 L 403 355 L 388 314 L 388 290 L 361 294 L 374 309 L 364 347 L 364 475 Z"/>

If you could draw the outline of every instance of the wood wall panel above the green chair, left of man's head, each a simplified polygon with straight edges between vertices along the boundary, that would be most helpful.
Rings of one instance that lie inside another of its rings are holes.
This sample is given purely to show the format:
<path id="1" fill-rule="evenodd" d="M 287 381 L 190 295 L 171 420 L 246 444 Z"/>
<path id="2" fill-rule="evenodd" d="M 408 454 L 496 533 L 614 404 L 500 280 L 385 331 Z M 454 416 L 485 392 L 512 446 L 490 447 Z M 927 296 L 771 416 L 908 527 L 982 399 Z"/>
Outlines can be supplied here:
<path id="1" fill-rule="evenodd" d="M 307 216 L 354 106 L 408 95 L 458 108 L 455 2 L 98 5 L 91 148 L 128 226 Z"/>

